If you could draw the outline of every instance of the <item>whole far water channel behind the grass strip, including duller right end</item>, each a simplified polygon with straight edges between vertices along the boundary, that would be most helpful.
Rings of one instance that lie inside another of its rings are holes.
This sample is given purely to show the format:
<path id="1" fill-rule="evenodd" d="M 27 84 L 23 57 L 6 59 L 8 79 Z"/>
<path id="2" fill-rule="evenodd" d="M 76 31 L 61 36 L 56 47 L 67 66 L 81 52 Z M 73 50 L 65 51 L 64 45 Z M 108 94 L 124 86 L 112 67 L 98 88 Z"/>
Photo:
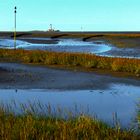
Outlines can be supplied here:
<path id="1" fill-rule="evenodd" d="M 26 41 L 17 40 L 17 48 L 23 48 L 27 50 L 49 50 L 58 52 L 82 52 L 82 53 L 94 53 L 100 56 L 109 57 L 126 57 L 126 58 L 140 58 L 140 49 L 133 48 L 117 48 L 103 41 L 99 42 L 84 42 L 78 39 L 57 39 L 49 38 L 22 38 L 22 39 L 33 39 L 33 40 L 48 40 L 52 41 L 52 44 L 32 44 Z M 53 44 L 53 41 L 55 43 Z M 11 39 L 0 39 L 0 47 L 13 48 L 14 40 Z"/>

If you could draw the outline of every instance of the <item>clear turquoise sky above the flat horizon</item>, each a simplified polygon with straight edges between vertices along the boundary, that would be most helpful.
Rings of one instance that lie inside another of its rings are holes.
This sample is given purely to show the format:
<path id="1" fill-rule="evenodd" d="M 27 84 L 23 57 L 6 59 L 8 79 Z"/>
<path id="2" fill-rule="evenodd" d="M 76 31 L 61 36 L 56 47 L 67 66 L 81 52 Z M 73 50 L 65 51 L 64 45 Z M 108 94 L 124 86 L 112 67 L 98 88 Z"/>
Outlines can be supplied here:
<path id="1" fill-rule="evenodd" d="M 0 0 L 0 31 L 140 31 L 140 0 Z"/>

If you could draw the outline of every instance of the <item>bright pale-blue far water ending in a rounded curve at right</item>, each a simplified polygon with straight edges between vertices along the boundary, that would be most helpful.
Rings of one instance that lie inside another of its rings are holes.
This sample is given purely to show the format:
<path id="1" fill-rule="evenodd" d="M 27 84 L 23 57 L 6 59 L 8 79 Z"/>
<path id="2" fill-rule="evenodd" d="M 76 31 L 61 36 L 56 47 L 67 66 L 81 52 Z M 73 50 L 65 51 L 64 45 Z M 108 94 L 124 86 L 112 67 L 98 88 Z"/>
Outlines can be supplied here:
<path id="1" fill-rule="evenodd" d="M 14 47 L 14 41 L 9 39 L 0 40 L 0 46 L 12 48 Z M 60 39 L 58 44 L 31 44 L 17 40 L 17 48 L 87 53 L 102 53 L 111 49 L 109 45 L 83 42 L 74 39 Z"/>

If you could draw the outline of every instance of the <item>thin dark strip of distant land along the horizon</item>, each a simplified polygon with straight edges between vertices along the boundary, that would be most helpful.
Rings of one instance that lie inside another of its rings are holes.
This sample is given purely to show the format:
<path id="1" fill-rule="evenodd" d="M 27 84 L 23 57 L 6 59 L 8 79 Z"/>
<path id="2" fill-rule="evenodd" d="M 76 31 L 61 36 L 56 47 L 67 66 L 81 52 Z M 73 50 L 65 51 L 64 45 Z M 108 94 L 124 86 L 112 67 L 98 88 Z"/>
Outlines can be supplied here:
<path id="1" fill-rule="evenodd" d="M 0 31 L 0 37 L 7 37 L 7 36 L 12 36 L 14 31 Z M 17 31 L 17 36 L 21 35 L 22 37 L 24 36 L 41 36 L 41 37 L 46 37 L 46 36 L 52 36 L 52 35 L 58 35 L 58 34 L 68 34 L 69 36 L 73 35 L 78 35 L 81 37 L 82 36 L 89 36 L 89 35 L 113 35 L 113 36 L 118 36 L 118 35 L 137 35 L 140 36 L 140 31 L 109 31 L 109 32 L 101 32 L 101 31 L 87 31 L 87 32 L 80 32 L 80 31 L 60 31 L 60 32 L 48 32 L 48 31 Z"/>

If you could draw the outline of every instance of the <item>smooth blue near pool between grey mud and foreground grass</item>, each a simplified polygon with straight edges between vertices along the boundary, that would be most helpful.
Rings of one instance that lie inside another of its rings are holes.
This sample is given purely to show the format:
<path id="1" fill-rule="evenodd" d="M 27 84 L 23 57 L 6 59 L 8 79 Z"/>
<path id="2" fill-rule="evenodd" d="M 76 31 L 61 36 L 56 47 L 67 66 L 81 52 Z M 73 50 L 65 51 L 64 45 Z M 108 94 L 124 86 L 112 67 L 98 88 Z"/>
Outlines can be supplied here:
<path id="1" fill-rule="evenodd" d="M 140 99 L 140 87 L 112 84 L 108 90 L 0 90 L 0 100 L 10 103 L 28 103 L 40 101 L 42 104 L 50 104 L 73 110 L 77 105 L 78 111 L 87 111 L 97 115 L 98 118 L 111 123 L 113 113 L 117 113 L 121 125 L 129 126 L 131 119 L 135 117 L 136 103 Z"/>

